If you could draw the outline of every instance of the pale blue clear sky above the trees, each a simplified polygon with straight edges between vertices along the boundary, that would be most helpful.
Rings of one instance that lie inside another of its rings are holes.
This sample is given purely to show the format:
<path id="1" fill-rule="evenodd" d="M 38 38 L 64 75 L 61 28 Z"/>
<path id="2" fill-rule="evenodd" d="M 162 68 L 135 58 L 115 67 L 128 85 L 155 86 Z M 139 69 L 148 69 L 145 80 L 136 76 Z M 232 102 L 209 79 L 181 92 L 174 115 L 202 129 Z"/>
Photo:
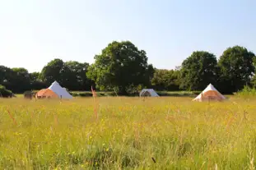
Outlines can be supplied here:
<path id="1" fill-rule="evenodd" d="M 166 69 L 195 50 L 256 53 L 255 8 L 255 0 L 0 0 L 0 65 L 92 63 L 113 40 L 132 41 Z"/>

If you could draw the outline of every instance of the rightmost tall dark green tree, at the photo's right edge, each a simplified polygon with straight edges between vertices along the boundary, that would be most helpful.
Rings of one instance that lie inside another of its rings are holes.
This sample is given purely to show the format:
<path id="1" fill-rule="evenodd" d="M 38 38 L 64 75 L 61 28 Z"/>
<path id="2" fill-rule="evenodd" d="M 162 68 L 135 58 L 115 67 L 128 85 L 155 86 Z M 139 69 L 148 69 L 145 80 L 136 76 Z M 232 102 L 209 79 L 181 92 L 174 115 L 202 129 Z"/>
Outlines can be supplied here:
<path id="1" fill-rule="evenodd" d="M 227 93 L 241 90 L 254 74 L 254 53 L 246 48 L 227 48 L 218 62 L 221 68 L 221 90 Z"/>

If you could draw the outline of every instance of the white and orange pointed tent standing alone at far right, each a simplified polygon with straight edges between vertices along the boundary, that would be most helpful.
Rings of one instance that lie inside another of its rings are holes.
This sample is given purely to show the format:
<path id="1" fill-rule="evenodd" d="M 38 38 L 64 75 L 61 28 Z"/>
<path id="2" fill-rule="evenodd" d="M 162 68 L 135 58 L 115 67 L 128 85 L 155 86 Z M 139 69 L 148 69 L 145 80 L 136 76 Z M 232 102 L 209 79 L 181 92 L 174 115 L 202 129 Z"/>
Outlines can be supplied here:
<path id="1" fill-rule="evenodd" d="M 218 90 L 216 90 L 213 85 L 210 84 L 207 86 L 205 90 L 202 91 L 201 94 L 198 95 L 198 97 L 193 99 L 193 101 L 199 101 L 199 102 L 210 101 L 210 100 L 221 101 L 223 99 L 226 99 L 226 98 Z"/>

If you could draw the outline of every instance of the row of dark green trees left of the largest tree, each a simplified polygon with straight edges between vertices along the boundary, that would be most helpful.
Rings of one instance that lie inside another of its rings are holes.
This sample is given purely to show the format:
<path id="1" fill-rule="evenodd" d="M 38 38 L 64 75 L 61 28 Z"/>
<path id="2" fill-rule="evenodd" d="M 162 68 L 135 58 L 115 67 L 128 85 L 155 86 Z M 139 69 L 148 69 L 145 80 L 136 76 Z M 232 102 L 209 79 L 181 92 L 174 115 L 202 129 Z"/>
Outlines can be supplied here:
<path id="1" fill-rule="evenodd" d="M 57 80 L 67 90 L 90 90 L 92 82 L 86 77 L 88 63 L 50 61 L 41 72 L 29 73 L 26 68 L 0 66 L 0 85 L 14 93 L 26 90 L 40 90 Z"/>

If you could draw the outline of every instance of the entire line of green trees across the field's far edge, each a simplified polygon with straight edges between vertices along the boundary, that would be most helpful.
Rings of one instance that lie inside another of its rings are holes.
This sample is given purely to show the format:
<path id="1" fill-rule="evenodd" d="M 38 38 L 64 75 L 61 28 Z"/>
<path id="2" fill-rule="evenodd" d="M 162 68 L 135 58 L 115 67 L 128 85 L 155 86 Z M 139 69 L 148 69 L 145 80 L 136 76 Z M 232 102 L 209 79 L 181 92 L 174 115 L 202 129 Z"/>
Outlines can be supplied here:
<path id="1" fill-rule="evenodd" d="M 14 93 L 40 90 L 57 80 L 67 90 L 115 91 L 136 94 L 142 88 L 155 90 L 203 90 L 209 83 L 224 94 L 241 90 L 244 85 L 255 86 L 256 57 L 240 46 L 226 48 L 216 55 L 195 51 L 181 66 L 173 70 L 157 69 L 147 62 L 147 53 L 130 41 L 113 41 L 95 62 L 63 62 L 55 58 L 42 71 L 0 66 L 0 85 Z"/>

